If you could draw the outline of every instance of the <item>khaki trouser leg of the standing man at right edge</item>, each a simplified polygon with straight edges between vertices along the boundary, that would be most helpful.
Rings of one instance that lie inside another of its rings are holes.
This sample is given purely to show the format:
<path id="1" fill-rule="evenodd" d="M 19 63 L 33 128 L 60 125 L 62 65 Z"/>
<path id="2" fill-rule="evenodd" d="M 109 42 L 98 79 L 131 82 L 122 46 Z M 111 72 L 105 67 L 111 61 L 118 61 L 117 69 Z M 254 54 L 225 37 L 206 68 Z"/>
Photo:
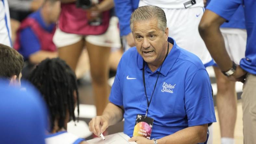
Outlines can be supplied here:
<path id="1" fill-rule="evenodd" d="M 256 76 L 249 74 L 243 86 L 243 134 L 244 144 L 256 143 Z"/>

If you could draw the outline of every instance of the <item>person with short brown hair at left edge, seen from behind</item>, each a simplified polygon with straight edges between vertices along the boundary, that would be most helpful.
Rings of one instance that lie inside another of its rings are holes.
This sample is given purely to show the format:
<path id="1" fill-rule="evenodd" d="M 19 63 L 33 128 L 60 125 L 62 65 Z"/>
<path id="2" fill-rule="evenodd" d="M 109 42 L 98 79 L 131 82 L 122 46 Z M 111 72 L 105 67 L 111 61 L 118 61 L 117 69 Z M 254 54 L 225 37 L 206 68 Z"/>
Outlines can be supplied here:
<path id="1" fill-rule="evenodd" d="M 20 85 L 23 57 L 15 49 L 0 44 L 0 78 L 8 79 L 11 85 Z"/>

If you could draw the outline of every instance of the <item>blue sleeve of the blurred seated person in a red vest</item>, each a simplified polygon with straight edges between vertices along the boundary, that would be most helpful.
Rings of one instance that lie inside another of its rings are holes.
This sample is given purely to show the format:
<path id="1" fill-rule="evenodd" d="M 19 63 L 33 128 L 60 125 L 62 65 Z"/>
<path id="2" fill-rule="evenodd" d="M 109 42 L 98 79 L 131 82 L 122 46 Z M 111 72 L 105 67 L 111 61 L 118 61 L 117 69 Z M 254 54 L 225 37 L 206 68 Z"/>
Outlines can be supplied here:
<path id="1" fill-rule="evenodd" d="M 20 32 L 19 52 L 25 59 L 41 49 L 40 42 L 31 28 L 26 28 Z"/>

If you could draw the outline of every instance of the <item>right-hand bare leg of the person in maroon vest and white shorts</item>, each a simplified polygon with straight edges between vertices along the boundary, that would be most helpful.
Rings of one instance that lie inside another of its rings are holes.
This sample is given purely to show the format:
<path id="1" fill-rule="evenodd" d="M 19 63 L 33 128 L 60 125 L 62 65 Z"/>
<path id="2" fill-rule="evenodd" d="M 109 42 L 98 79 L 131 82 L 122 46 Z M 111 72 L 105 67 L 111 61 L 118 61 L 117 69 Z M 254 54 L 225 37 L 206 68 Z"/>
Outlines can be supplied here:
<path id="1" fill-rule="evenodd" d="M 109 54 L 110 47 L 96 46 L 86 42 L 90 60 L 92 85 L 97 115 L 101 115 L 109 98 Z"/>

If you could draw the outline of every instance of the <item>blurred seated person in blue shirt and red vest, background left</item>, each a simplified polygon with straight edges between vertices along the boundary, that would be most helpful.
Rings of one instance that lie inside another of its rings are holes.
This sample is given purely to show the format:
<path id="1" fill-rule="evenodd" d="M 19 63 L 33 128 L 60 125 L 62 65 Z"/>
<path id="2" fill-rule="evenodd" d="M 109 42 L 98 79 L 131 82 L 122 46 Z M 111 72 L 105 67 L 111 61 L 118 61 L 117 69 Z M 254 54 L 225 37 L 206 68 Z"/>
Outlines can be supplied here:
<path id="1" fill-rule="evenodd" d="M 38 64 L 47 57 L 58 56 L 52 37 L 59 12 L 59 1 L 45 0 L 41 9 L 22 21 L 14 48 L 23 55 L 25 61 Z"/>

